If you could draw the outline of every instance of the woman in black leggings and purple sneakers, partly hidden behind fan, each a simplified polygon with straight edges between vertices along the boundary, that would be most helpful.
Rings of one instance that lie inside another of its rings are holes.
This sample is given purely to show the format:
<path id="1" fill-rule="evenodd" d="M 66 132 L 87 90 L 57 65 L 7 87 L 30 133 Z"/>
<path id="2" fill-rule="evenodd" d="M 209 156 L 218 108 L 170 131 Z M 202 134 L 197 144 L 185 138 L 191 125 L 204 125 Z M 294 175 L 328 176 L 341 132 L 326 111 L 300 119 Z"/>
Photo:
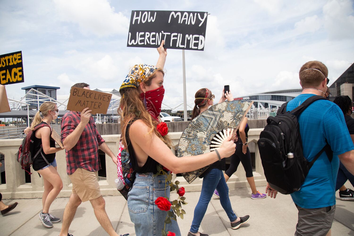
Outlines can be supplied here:
<path id="1" fill-rule="evenodd" d="M 247 139 L 248 139 L 248 131 L 250 130 L 249 125 L 247 124 L 247 117 L 245 117 L 240 124 L 239 129 L 237 130 L 237 137 L 238 140 L 236 142 L 236 151 L 235 153 L 230 157 L 230 167 L 227 171 L 224 173 L 225 181 L 229 180 L 231 175 L 236 172 L 237 167 L 240 164 L 240 161 L 242 162 L 242 165 L 244 166 L 244 169 L 246 171 L 246 178 L 247 182 L 249 183 L 252 194 L 251 198 L 252 199 L 262 199 L 267 197 L 266 194 L 261 194 L 259 191 L 256 189 L 256 184 L 255 184 L 255 179 L 253 178 L 253 172 L 252 172 L 252 163 L 251 163 L 251 154 L 250 154 L 250 149 L 248 148 L 247 145 Z M 215 189 L 214 195 L 219 196 L 218 191 Z"/>

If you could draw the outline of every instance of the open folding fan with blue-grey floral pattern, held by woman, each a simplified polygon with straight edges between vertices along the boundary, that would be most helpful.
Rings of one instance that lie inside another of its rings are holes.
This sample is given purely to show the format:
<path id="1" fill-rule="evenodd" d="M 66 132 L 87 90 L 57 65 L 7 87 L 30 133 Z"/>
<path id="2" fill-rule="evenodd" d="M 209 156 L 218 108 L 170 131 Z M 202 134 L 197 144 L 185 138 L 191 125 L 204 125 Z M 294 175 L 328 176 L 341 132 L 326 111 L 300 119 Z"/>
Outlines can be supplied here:
<path id="1" fill-rule="evenodd" d="M 195 155 L 219 148 L 226 137 L 236 133 L 234 131 L 238 129 L 252 103 L 248 100 L 222 102 L 202 112 L 183 131 L 177 156 L 193 158 Z M 207 168 L 208 166 L 182 175 L 188 183 L 192 183 Z"/>

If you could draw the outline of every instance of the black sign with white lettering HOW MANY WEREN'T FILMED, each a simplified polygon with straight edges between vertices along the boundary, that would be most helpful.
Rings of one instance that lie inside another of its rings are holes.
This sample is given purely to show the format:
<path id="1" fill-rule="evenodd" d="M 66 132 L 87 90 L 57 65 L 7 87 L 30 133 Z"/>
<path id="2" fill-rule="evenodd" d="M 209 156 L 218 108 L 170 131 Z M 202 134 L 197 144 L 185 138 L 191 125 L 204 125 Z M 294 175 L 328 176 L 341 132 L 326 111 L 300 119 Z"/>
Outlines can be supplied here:
<path id="1" fill-rule="evenodd" d="M 127 47 L 204 51 L 207 12 L 132 11 Z"/>

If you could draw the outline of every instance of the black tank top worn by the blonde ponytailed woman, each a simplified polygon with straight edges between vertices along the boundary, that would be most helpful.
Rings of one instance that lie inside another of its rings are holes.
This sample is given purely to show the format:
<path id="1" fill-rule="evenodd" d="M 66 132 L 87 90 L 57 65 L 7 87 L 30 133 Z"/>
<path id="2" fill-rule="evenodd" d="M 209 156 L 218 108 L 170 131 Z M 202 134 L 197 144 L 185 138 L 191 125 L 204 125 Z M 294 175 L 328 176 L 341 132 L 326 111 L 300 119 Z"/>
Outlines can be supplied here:
<path id="1" fill-rule="evenodd" d="M 46 122 L 42 121 L 40 122 L 38 125 L 41 125 L 41 124 L 45 124 Z M 38 129 L 37 129 L 38 130 Z M 37 132 L 37 131 L 36 131 Z M 55 148 L 55 141 L 50 138 L 50 147 L 51 148 Z M 36 136 L 34 136 L 34 151 L 33 151 L 33 155 L 35 155 L 38 150 L 41 148 L 42 146 L 42 139 L 41 138 L 37 138 Z M 47 159 L 47 161 L 49 163 L 52 163 L 55 159 L 55 153 L 51 153 L 51 154 L 45 154 L 44 151 L 42 150 L 41 151 L 43 156 Z M 47 162 L 43 159 L 42 155 L 41 154 L 38 154 L 38 156 L 36 157 L 36 159 L 34 159 L 34 162 L 33 162 L 33 169 L 35 171 L 38 171 L 39 169 L 47 166 Z"/>

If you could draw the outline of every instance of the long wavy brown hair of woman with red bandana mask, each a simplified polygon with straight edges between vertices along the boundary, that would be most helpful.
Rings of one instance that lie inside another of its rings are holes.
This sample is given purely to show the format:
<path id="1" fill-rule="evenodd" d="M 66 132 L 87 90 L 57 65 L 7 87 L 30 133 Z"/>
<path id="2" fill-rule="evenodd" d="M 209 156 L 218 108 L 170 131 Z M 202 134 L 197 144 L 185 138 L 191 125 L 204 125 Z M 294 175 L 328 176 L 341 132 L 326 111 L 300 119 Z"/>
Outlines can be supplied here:
<path id="1" fill-rule="evenodd" d="M 144 84 L 147 86 L 151 85 L 152 79 L 156 77 L 156 72 L 160 71 L 165 75 L 162 69 L 157 69 L 152 75 L 144 80 Z M 173 146 L 171 138 L 168 134 L 161 136 L 157 131 L 156 126 L 160 123 L 152 119 L 150 113 L 145 109 L 144 103 L 140 100 L 140 94 L 137 88 L 128 87 L 120 91 L 120 108 L 118 109 L 118 114 L 120 115 L 120 129 L 121 129 L 121 141 L 125 147 L 127 147 L 127 140 L 125 137 L 126 128 L 129 122 L 133 119 L 142 120 L 149 128 L 151 128 L 149 133 L 154 132 L 169 148 Z"/>

